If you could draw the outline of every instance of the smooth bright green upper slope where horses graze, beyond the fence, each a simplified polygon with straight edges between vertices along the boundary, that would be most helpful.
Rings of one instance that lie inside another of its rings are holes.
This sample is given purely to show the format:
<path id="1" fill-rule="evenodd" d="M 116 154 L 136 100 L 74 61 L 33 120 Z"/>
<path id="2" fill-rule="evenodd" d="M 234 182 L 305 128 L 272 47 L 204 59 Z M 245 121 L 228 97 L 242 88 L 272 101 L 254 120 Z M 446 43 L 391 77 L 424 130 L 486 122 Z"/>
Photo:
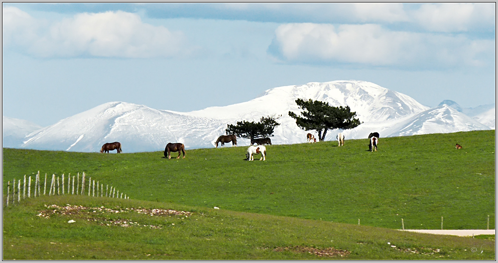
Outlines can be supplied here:
<path id="1" fill-rule="evenodd" d="M 266 161 L 252 162 L 246 146 L 187 150 L 185 159 L 3 149 L 3 186 L 38 170 L 85 171 L 137 200 L 391 229 L 401 218 L 406 229 L 440 229 L 441 217 L 445 229 L 486 229 L 490 215 L 495 228 L 495 131 L 380 138 L 377 152 L 367 144 L 267 145 Z"/>

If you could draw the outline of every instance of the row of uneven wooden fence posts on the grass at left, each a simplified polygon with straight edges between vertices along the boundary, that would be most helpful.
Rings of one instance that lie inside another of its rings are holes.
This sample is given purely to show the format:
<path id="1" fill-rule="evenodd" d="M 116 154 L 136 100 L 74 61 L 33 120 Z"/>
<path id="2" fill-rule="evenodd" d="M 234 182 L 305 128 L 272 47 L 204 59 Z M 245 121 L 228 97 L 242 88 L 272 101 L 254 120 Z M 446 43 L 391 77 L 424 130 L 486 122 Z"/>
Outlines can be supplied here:
<path id="1" fill-rule="evenodd" d="M 73 175 L 73 178 L 71 180 L 71 174 L 68 175 L 67 177 L 67 191 L 65 188 L 65 178 L 64 174 L 62 174 L 62 184 L 60 184 L 59 176 L 55 176 L 55 174 L 52 174 L 52 181 L 50 182 L 50 187 L 48 190 L 48 195 L 61 195 L 61 190 L 62 194 L 76 194 L 76 195 L 83 195 L 86 194 L 85 191 L 85 172 L 83 172 L 83 176 L 81 179 L 81 190 L 80 190 L 80 173 L 78 173 L 76 179 L 75 176 Z M 27 180 L 27 198 L 31 198 L 31 176 L 29 176 Z M 76 192 L 74 188 L 74 181 L 76 180 Z M 97 181 L 97 192 L 95 191 L 95 180 L 92 181 L 92 177 L 88 180 L 89 185 L 88 185 L 88 196 L 100 196 L 104 197 L 104 184 L 101 184 L 99 181 Z M 7 200 L 6 200 L 6 206 L 9 204 L 14 204 L 15 200 L 17 199 L 17 203 L 21 202 L 21 179 L 17 181 L 17 189 L 15 188 L 15 179 L 12 180 L 12 194 L 10 194 L 10 181 L 7 182 Z M 57 185 L 57 187 L 56 187 Z M 62 185 L 62 187 L 61 187 Z M 34 194 L 33 197 L 41 196 L 41 189 L 40 189 L 40 171 L 35 176 L 34 179 Z M 100 191 L 99 191 L 100 189 Z M 17 192 L 16 192 L 17 191 Z M 47 174 L 45 173 L 45 181 L 43 183 L 43 195 L 46 195 L 47 192 Z M 17 195 L 17 198 L 16 198 Z M 116 187 L 111 186 L 111 190 L 109 191 L 109 185 L 106 185 L 106 197 L 111 197 L 111 198 L 123 198 L 123 192 L 121 192 L 120 195 L 120 190 L 116 191 Z M 12 201 L 10 201 L 10 197 L 12 198 Z M 22 187 L 22 199 L 26 199 L 26 175 L 24 175 L 24 182 L 23 182 L 23 187 Z M 129 199 L 129 196 L 124 195 L 124 199 Z"/>

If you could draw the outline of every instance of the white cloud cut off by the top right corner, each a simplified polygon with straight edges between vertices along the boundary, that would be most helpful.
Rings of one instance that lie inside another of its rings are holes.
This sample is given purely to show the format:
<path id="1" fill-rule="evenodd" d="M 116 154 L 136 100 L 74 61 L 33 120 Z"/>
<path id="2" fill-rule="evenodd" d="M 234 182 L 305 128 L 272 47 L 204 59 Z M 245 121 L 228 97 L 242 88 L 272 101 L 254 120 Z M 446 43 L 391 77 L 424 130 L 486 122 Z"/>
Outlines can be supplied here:
<path id="1" fill-rule="evenodd" d="M 411 16 L 416 23 L 431 31 L 494 30 L 496 3 L 427 3 L 413 11 Z"/>

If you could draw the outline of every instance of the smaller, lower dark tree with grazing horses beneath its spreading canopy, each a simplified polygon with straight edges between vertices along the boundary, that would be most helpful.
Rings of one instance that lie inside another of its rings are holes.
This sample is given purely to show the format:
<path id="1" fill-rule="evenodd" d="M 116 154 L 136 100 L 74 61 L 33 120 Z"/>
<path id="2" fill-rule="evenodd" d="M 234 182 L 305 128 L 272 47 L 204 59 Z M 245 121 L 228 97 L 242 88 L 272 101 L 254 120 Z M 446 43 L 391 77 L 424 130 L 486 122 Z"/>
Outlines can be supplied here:
<path id="1" fill-rule="evenodd" d="M 235 134 L 238 137 L 254 139 L 273 136 L 273 130 L 280 124 L 276 122 L 279 118 L 275 116 L 261 117 L 259 122 L 241 121 L 237 125 L 229 124 L 227 134 Z"/>

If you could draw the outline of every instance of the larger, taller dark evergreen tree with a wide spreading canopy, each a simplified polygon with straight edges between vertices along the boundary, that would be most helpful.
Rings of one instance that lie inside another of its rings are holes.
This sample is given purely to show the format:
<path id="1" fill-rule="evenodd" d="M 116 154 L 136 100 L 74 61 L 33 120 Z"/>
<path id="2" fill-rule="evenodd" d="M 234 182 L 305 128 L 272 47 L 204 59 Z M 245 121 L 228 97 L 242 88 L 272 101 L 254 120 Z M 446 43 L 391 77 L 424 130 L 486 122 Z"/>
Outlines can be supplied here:
<path id="1" fill-rule="evenodd" d="M 317 131 L 322 141 L 328 130 L 353 129 L 361 124 L 355 119 L 356 112 L 351 112 L 349 106 L 333 107 L 326 102 L 297 99 L 296 104 L 302 109 L 302 117 L 289 111 L 289 116 L 296 119 L 296 124 L 305 131 Z M 323 132 L 323 133 L 322 133 Z"/>

